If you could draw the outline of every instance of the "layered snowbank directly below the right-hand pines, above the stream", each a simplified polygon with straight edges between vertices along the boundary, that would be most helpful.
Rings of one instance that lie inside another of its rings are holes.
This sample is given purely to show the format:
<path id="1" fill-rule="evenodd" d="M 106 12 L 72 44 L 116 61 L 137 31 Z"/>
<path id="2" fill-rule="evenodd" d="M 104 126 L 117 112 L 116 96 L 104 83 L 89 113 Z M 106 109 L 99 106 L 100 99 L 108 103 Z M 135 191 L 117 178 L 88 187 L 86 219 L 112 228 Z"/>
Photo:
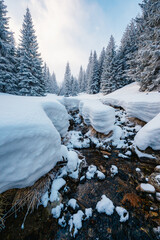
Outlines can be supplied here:
<path id="1" fill-rule="evenodd" d="M 121 106 L 129 117 L 148 122 L 160 112 L 160 93 L 139 92 L 138 83 L 129 84 L 102 97 L 102 102 Z"/>

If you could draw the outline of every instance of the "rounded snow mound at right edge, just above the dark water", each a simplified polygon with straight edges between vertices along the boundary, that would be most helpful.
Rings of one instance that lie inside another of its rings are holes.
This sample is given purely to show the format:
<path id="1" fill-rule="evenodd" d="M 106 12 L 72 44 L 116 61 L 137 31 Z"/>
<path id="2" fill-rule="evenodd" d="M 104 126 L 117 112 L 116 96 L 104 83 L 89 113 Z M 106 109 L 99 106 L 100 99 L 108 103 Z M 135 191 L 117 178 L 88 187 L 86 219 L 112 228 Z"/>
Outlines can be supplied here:
<path id="1" fill-rule="evenodd" d="M 145 150 L 147 147 L 160 150 L 160 113 L 139 130 L 134 145 L 140 150 Z"/>

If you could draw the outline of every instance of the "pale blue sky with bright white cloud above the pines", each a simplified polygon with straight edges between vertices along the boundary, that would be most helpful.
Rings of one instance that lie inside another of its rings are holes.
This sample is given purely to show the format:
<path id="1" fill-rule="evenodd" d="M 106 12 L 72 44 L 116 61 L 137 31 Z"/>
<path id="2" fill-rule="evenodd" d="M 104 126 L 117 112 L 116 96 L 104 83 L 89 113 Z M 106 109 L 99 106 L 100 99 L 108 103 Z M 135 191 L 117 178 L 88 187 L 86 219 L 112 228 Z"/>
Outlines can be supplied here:
<path id="1" fill-rule="evenodd" d="M 57 81 L 63 80 L 66 63 L 78 76 L 86 68 L 89 54 L 99 55 L 107 47 L 110 35 L 117 46 L 127 24 L 138 13 L 142 0 L 4 0 L 10 17 L 10 28 L 20 39 L 20 29 L 29 7 L 42 59 Z"/>

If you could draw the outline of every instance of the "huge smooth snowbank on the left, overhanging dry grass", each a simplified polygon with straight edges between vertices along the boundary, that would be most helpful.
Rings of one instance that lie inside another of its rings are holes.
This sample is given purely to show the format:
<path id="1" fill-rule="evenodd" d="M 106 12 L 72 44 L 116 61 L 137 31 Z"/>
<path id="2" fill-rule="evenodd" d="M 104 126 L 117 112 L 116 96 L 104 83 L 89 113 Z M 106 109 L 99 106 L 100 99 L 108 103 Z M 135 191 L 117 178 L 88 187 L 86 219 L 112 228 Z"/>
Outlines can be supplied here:
<path id="1" fill-rule="evenodd" d="M 32 185 L 61 159 L 68 114 L 55 97 L 47 101 L 0 94 L 0 193 Z"/>

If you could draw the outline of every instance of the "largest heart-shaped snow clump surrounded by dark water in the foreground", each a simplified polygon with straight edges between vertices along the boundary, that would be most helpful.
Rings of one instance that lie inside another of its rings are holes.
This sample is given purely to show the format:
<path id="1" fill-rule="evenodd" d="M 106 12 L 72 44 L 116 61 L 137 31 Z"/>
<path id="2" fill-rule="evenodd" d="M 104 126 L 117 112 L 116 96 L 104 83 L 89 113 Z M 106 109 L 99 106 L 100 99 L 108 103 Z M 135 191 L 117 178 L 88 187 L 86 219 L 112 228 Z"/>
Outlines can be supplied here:
<path id="1" fill-rule="evenodd" d="M 105 195 L 102 195 L 101 198 L 101 201 L 99 201 L 96 205 L 96 210 L 99 213 L 106 213 L 107 215 L 112 215 L 114 212 L 113 202 Z"/>

